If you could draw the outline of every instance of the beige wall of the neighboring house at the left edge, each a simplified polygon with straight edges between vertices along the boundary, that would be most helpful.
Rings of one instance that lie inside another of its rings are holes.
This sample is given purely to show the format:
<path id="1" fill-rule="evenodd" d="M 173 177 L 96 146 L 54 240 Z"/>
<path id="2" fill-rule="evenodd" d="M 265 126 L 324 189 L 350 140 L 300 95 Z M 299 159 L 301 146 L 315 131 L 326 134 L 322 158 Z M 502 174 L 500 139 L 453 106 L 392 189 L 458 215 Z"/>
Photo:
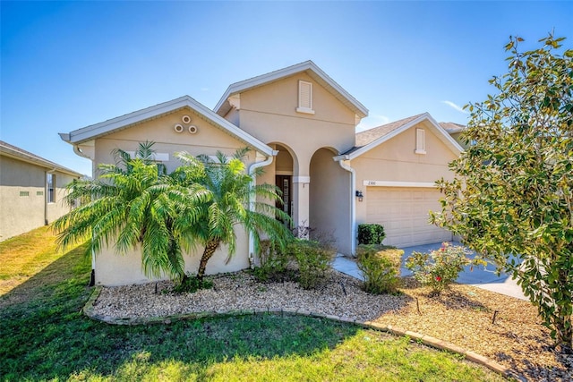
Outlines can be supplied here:
<path id="1" fill-rule="evenodd" d="M 47 204 L 47 168 L 4 156 L 0 166 L 0 241 L 49 224 L 70 210 L 62 199 L 73 176 L 55 173 L 56 202 Z"/>

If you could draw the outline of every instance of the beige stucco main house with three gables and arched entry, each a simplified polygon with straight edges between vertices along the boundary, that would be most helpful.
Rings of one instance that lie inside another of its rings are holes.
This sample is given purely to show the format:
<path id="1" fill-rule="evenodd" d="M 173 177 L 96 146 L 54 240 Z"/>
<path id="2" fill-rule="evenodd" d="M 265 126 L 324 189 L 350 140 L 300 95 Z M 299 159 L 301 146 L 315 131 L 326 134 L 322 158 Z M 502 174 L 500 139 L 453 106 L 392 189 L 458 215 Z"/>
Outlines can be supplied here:
<path id="1" fill-rule="evenodd" d="M 448 163 L 462 148 L 428 114 L 356 134 L 366 115 L 360 102 L 307 61 L 230 85 L 214 110 L 185 96 L 60 135 L 94 166 L 110 163 L 113 149 L 134 151 L 145 140 L 156 142 L 156 159 L 168 170 L 179 165 L 177 151 L 231 154 L 249 146 L 249 171 L 265 169 L 257 182 L 277 184 L 295 225 L 332 234 L 341 253 L 355 252 L 360 223 L 384 225 L 385 243 L 393 245 L 451 239 L 427 223 L 428 210 L 440 207 L 433 183 L 452 178 Z M 207 272 L 249 267 L 252 255 L 252 243 L 238 232 L 235 257 L 226 264 L 222 248 Z M 189 272 L 199 258 L 187 259 Z M 137 251 L 117 256 L 103 250 L 95 271 L 98 284 L 148 281 Z"/>

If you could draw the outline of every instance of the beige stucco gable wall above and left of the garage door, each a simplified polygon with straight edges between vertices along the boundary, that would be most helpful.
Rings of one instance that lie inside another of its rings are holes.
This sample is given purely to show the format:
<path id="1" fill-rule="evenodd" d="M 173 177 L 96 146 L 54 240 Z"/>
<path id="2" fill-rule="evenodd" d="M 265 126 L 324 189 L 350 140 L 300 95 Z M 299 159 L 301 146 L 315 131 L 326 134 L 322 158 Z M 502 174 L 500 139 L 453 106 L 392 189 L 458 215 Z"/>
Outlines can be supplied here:
<path id="1" fill-rule="evenodd" d="M 425 130 L 426 154 L 415 154 L 415 130 L 421 127 Z M 434 183 L 441 177 L 451 180 L 448 164 L 456 157 L 429 124 L 420 123 L 352 160 L 356 190 L 363 191 L 363 202 L 356 203 L 356 224 L 366 222 L 368 189 L 363 181 Z"/>

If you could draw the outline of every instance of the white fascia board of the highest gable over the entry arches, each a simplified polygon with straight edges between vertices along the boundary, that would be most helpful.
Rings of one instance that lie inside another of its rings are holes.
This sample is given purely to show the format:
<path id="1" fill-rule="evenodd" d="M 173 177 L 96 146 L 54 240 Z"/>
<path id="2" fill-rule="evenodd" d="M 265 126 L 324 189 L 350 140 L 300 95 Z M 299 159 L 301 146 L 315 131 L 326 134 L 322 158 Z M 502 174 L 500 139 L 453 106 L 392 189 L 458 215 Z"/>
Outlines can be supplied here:
<path id="1" fill-rule="evenodd" d="M 222 109 L 222 107 L 227 102 L 227 99 L 236 93 L 240 93 L 246 89 L 256 88 L 257 86 L 261 86 L 265 83 L 277 81 L 281 78 L 288 77 L 298 72 L 304 72 L 309 69 L 312 70 L 312 72 L 315 72 L 322 81 L 329 85 L 330 88 L 337 91 L 343 98 L 346 98 L 346 100 L 355 107 L 357 111 L 356 114 L 363 114 L 362 117 L 368 115 L 368 109 L 366 107 L 364 107 L 360 102 L 358 102 L 358 100 L 356 100 L 356 98 L 352 97 L 345 89 L 338 85 L 336 81 L 332 80 L 325 72 L 322 72 L 321 68 L 319 68 L 310 60 L 305 61 L 304 63 L 288 66 L 284 69 L 279 69 L 278 71 L 262 74 L 249 80 L 239 81 L 229 85 L 223 96 L 219 99 L 217 106 L 215 106 L 213 110 L 215 110 L 215 113 L 218 115 L 225 115 L 230 108 L 226 106 L 225 109 Z"/>

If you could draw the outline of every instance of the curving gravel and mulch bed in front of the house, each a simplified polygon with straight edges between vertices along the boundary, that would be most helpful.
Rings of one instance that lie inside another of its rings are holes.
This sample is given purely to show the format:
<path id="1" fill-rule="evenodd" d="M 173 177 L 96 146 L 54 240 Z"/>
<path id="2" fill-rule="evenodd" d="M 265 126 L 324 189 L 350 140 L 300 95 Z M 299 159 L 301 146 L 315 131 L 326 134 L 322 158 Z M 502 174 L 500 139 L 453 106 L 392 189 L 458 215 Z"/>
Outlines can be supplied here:
<path id="1" fill-rule="evenodd" d="M 169 293 L 173 284 L 167 281 L 105 287 L 93 304 L 94 313 L 146 318 L 213 310 L 303 309 L 432 335 L 497 361 L 526 380 L 573 381 L 573 356 L 553 351 L 549 330 L 528 301 L 462 284 L 431 297 L 430 290 L 412 278 L 403 279 L 398 295 L 372 295 L 363 292 L 360 281 L 334 270 L 312 291 L 290 281 L 261 284 L 246 271 L 210 279 L 214 287 L 196 293 Z"/>

